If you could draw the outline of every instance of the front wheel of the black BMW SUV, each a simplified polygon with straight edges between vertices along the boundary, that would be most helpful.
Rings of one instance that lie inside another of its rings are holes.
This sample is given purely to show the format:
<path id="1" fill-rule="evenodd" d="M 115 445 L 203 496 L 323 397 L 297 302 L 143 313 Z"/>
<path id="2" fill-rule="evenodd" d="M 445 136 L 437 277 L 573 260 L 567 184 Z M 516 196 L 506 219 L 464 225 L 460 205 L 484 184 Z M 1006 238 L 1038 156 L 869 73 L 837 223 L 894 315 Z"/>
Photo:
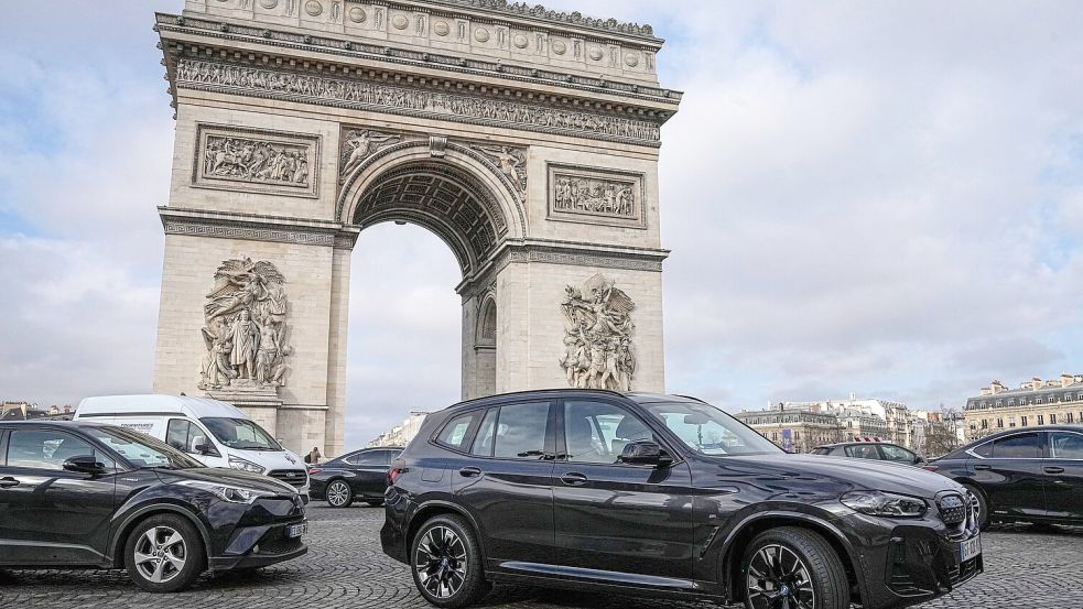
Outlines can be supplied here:
<path id="1" fill-rule="evenodd" d="M 826 540 L 804 529 L 782 526 L 756 535 L 745 548 L 740 573 L 747 609 L 776 607 L 779 594 L 803 602 L 793 607 L 849 607 L 842 558 Z"/>

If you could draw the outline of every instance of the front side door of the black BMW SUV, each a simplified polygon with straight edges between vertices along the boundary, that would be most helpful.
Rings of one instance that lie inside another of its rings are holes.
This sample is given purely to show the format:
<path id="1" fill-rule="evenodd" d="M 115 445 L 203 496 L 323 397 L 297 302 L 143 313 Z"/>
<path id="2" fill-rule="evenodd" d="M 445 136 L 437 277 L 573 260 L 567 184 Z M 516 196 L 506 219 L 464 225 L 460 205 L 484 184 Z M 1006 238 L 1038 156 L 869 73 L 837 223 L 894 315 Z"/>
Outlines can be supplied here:
<path id="1" fill-rule="evenodd" d="M 564 573 L 686 588 L 693 578 L 687 464 L 619 463 L 629 442 L 657 441 L 622 405 L 565 400 L 559 421 L 553 510 L 557 564 L 566 567 Z"/>

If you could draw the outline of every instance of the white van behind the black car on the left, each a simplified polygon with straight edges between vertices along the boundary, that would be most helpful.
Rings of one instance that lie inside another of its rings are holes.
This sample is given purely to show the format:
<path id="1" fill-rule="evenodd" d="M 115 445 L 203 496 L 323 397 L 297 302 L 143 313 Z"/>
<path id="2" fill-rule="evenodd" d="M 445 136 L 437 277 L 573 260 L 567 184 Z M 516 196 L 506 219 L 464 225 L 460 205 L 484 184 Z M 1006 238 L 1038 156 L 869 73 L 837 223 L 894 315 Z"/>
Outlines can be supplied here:
<path id="1" fill-rule="evenodd" d="M 209 398 L 107 395 L 87 398 L 75 421 L 100 421 L 142 432 L 208 467 L 230 467 L 289 482 L 308 501 L 308 469 L 243 412 Z"/>

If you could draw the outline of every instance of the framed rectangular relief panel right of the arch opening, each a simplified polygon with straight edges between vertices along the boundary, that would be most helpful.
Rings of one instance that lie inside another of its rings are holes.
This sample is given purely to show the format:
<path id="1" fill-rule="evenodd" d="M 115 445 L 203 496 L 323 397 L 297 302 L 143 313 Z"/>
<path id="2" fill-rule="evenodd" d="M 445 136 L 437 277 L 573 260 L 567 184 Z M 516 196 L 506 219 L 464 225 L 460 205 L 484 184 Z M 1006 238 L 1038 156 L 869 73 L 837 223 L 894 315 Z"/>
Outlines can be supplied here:
<path id="1" fill-rule="evenodd" d="M 549 164 L 549 219 L 646 228 L 643 175 Z"/>

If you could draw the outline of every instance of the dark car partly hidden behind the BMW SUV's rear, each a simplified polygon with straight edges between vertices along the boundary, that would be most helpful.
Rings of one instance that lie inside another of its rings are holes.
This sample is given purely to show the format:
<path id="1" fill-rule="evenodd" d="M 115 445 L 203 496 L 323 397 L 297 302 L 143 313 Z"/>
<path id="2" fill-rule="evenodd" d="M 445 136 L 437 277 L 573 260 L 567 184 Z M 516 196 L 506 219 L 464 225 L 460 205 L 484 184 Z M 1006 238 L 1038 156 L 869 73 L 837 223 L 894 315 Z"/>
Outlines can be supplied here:
<path id="1" fill-rule="evenodd" d="M 382 505 L 388 488 L 388 469 L 401 447 L 364 448 L 308 469 L 310 493 L 326 499 L 332 508 L 348 508 L 355 499 Z"/>

